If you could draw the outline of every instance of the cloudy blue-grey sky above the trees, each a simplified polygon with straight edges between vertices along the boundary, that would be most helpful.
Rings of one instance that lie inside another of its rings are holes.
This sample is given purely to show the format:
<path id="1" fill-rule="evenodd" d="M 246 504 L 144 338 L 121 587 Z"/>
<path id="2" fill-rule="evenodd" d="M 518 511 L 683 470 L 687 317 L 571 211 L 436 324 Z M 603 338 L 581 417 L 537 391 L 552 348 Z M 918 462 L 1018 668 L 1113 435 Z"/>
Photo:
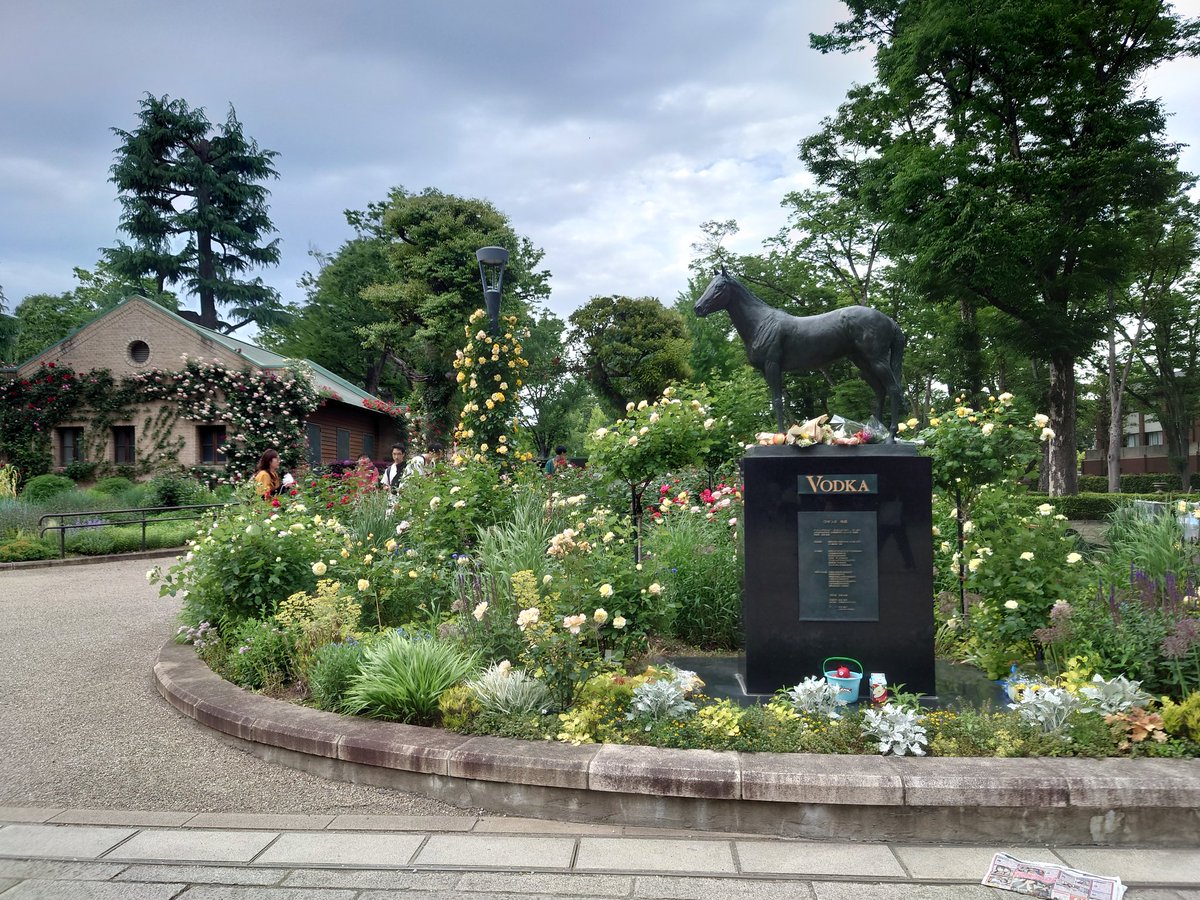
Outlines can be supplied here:
<path id="1" fill-rule="evenodd" d="M 1180 2 L 1200 14 L 1200 0 Z M 686 286 L 707 220 L 756 251 L 809 181 L 796 145 L 870 78 L 865 54 L 808 35 L 832 0 L 44 0 L 0 13 L 0 287 L 10 311 L 73 287 L 116 238 L 108 167 L 146 92 L 181 97 L 280 154 L 270 214 L 301 299 L 310 250 L 350 236 L 342 210 L 392 186 L 482 197 L 546 251 L 552 310 Z M 1146 90 L 1200 145 L 1200 62 Z M 1200 149 L 1184 152 L 1200 170 Z M 473 260 L 466 260 L 473 265 Z"/>

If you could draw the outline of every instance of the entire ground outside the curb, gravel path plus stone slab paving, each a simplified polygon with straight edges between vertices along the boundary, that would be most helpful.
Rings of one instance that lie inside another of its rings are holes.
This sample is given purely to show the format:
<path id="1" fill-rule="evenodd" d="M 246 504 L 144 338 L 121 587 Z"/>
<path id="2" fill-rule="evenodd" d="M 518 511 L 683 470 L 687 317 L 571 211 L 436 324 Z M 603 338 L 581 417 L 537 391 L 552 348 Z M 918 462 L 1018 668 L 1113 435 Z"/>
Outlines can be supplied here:
<path id="1" fill-rule="evenodd" d="M 1200 900 L 1200 850 L 584 826 L 296 773 L 157 696 L 150 664 L 175 605 L 146 565 L 0 572 L 0 900 L 1015 898 L 978 884 L 997 850 L 1118 875 L 1132 900 Z"/>

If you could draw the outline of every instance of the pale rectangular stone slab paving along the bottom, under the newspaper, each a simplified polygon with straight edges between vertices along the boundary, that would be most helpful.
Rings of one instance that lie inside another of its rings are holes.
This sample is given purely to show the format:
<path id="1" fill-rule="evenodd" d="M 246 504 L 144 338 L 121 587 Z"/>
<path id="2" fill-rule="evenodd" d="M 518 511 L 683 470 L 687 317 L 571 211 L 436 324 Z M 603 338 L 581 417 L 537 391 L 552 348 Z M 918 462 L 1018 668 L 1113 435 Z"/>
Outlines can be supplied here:
<path id="1" fill-rule="evenodd" d="M 24 822 L 16 820 L 26 820 Z M 697 835 L 497 817 L 0 809 L 0 900 L 71 898 L 1014 898 L 994 848 Z M 1200 898 L 1200 851 L 1006 848 Z M 7 890 L 5 890 L 7 888 Z"/>

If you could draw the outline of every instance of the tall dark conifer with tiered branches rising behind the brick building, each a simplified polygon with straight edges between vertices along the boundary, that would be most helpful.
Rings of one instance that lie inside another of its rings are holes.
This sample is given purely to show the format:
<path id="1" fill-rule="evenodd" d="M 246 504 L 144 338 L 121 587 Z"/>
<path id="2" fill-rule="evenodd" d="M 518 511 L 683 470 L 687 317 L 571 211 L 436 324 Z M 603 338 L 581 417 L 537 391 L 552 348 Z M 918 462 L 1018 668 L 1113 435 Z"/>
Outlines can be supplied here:
<path id="1" fill-rule="evenodd" d="M 121 144 L 110 181 L 131 244 L 106 251 L 109 262 L 126 277 L 152 277 L 160 293 L 179 284 L 194 294 L 200 311 L 188 317 L 205 328 L 278 322 L 278 293 L 248 277 L 280 262 L 262 184 L 278 176 L 278 154 L 246 137 L 232 106 L 220 126 L 184 100 L 146 95 L 140 107 L 133 131 L 113 128 Z M 236 322 L 222 322 L 218 307 Z"/>

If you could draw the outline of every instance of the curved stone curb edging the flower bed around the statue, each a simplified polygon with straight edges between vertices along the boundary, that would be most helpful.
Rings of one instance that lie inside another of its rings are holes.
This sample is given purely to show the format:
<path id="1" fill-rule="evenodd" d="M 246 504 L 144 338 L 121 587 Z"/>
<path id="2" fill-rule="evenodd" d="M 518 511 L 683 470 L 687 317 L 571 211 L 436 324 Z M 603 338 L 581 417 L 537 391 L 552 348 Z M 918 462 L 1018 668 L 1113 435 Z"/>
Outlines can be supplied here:
<path id="1" fill-rule="evenodd" d="M 745 754 L 538 743 L 307 709 L 169 642 L 160 692 L 264 758 L 523 816 L 851 840 L 1190 846 L 1200 760 Z"/>

